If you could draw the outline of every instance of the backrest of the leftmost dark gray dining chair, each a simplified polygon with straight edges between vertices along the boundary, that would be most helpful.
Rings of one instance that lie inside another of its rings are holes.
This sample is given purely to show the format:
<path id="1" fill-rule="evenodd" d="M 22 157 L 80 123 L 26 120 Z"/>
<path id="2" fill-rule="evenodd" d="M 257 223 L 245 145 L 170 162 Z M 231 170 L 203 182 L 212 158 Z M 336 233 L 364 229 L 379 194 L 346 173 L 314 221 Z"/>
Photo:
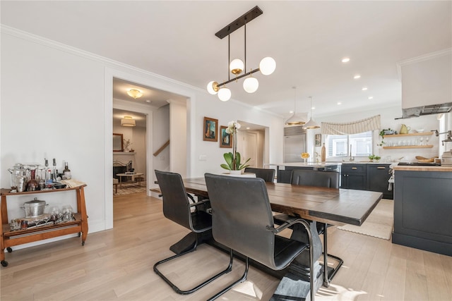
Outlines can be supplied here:
<path id="1" fill-rule="evenodd" d="M 182 176 L 179 173 L 157 170 L 155 170 L 155 176 L 162 191 L 165 217 L 194 231 L 189 198 L 186 195 Z"/>

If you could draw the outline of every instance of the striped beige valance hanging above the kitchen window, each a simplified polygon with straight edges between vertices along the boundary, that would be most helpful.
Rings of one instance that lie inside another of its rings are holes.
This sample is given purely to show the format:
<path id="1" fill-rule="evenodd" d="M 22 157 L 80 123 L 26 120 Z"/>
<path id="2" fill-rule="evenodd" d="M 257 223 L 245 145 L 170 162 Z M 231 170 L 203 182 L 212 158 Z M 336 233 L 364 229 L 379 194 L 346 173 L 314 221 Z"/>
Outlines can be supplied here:
<path id="1" fill-rule="evenodd" d="M 379 130 L 380 115 L 353 121 L 350 123 L 326 123 L 321 125 L 323 135 L 352 135 L 368 132 L 369 130 Z"/>

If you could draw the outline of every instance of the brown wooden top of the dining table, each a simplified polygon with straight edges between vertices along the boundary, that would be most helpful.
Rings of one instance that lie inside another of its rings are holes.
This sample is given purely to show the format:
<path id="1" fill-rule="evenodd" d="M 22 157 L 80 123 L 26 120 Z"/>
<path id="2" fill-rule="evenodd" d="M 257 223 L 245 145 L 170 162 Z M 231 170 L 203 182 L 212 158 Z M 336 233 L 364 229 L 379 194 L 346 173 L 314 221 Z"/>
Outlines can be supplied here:
<path id="1" fill-rule="evenodd" d="M 208 197 L 204 178 L 184 179 L 187 192 Z M 271 209 L 335 225 L 361 226 L 383 194 L 367 190 L 266 183 Z"/>

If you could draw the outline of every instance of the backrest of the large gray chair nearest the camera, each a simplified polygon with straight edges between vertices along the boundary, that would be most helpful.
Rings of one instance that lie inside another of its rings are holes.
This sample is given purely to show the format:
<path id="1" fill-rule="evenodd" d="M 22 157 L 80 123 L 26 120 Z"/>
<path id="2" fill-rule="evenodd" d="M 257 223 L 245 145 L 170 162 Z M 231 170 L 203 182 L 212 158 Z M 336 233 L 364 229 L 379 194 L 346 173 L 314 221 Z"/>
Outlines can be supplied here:
<path id="1" fill-rule="evenodd" d="M 273 215 L 266 183 L 261 178 L 239 178 L 206 173 L 212 207 L 213 238 L 272 269 L 275 264 Z"/>

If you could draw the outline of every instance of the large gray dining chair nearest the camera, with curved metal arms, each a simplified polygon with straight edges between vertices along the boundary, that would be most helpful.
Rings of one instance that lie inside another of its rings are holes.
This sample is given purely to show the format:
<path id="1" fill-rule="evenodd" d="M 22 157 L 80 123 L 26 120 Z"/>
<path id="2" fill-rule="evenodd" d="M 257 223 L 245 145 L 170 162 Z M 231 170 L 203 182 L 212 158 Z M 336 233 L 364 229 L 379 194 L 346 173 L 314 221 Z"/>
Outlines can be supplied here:
<path id="1" fill-rule="evenodd" d="M 246 280 L 249 259 L 273 270 L 287 267 L 309 245 L 312 245 L 309 224 L 292 217 L 275 228 L 268 199 L 266 183 L 261 178 L 239 178 L 205 174 L 210 205 L 212 207 L 212 234 L 215 241 L 230 248 L 230 266 L 234 251 L 245 257 L 245 271 L 234 281 L 208 300 L 215 300 L 237 283 Z M 309 244 L 284 238 L 280 231 L 300 224 L 307 230 Z M 309 247 L 310 267 L 314 266 L 313 249 Z M 314 298 L 314 269 L 309 269 L 311 299 Z"/>

